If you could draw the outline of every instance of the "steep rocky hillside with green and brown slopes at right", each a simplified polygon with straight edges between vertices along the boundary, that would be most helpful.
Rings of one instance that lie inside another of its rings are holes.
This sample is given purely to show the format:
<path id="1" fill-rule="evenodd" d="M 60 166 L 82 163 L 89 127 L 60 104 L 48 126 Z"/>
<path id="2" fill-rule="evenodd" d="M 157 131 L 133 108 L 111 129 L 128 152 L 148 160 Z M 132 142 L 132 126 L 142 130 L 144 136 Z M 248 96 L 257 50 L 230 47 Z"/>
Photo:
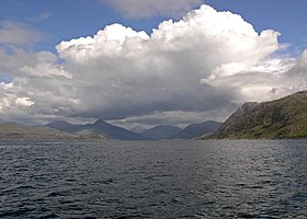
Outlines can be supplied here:
<path id="1" fill-rule="evenodd" d="M 245 103 L 209 138 L 307 138 L 307 91 L 264 103 Z"/>

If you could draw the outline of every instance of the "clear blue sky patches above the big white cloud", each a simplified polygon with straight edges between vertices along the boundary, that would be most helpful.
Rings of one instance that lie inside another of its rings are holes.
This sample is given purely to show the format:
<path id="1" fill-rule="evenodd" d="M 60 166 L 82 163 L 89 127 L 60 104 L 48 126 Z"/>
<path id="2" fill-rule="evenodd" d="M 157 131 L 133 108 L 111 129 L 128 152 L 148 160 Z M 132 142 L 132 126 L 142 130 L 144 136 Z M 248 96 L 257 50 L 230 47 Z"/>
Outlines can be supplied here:
<path id="1" fill-rule="evenodd" d="M 289 49 L 296 55 L 307 45 L 307 30 L 304 26 L 304 21 L 307 21 L 305 0 L 205 0 L 203 2 L 217 10 L 242 15 L 258 32 L 265 28 L 281 32 L 280 42 L 291 44 Z M 0 8 L 0 21 L 25 23 L 46 36 L 44 42 L 36 45 L 38 50 L 53 50 L 60 41 L 93 35 L 98 30 L 112 23 L 121 23 L 137 31 L 151 33 L 159 22 L 169 18 L 171 16 L 164 14 L 141 19 L 125 18 L 107 3 L 100 3 L 98 0 L 10 0 L 1 1 Z"/>

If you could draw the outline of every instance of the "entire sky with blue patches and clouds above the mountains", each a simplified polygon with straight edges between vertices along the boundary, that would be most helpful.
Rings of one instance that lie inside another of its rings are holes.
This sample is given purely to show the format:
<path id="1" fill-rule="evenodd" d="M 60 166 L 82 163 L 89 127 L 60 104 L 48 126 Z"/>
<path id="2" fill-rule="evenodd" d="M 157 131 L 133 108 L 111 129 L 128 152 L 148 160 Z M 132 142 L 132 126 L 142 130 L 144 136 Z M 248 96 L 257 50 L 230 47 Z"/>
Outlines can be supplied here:
<path id="1" fill-rule="evenodd" d="M 305 0 L 0 0 L 0 122 L 224 122 L 307 89 Z"/>

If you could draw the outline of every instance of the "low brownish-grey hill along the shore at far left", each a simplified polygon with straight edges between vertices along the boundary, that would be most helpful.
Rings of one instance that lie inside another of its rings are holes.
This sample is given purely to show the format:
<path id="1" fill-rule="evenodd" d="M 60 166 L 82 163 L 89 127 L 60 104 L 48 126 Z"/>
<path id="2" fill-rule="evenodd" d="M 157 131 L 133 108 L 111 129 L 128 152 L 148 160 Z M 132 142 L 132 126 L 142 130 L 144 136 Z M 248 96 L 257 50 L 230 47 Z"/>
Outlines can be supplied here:
<path id="1" fill-rule="evenodd" d="M 72 135 L 44 126 L 0 124 L 0 140 L 98 140 L 102 136 Z"/>

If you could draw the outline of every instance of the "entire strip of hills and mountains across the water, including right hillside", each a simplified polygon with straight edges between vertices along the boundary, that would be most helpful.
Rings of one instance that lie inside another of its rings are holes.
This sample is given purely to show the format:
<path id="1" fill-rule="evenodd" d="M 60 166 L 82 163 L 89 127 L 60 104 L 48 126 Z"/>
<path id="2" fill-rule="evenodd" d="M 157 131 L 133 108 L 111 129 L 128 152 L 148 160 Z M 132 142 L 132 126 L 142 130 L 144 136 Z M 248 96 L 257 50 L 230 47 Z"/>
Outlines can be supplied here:
<path id="1" fill-rule="evenodd" d="M 280 100 L 245 103 L 224 124 L 207 120 L 184 129 L 159 125 L 140 134 L 102 119 L 73 125 L 65 120 L 45 126 L 0 124 L 0 140 L 159 140 L 159 139 L 292 139 L 307 138 L 307 91 Z"/>

